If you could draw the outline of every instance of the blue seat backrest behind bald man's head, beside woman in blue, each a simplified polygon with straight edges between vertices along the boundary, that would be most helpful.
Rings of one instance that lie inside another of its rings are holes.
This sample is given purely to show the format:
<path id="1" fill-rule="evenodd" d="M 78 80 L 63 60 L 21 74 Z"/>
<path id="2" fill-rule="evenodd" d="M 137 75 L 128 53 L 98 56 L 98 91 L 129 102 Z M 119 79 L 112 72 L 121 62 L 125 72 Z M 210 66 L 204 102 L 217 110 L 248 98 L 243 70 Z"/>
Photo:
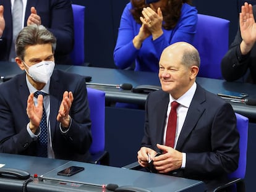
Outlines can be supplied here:
<path id="1" fill-rule="evenodd" d="M 197 33 L 193 44 L 201 58 L 198 77 L 222 79 L 220 65 L 228 51 L 230 22 L 210 15 L 197 16 Z"/>

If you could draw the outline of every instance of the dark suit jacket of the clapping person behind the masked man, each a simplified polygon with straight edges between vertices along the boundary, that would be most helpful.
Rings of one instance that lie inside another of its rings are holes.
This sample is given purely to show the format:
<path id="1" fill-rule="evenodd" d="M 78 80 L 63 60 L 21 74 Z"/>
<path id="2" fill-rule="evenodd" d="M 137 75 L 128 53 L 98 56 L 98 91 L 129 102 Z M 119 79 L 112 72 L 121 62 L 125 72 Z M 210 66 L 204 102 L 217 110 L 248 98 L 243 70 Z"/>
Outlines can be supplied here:
<path id="1" fill-rule="evenodd" d="M 0 61 L 8 61 L 12 43 L 11 1 L 0 0 L 4 6 L 6 27 L 0 38 Z M 30 8 L 35 7 L 41 17 L 41 24 L 57 38 L 54 54 L 56 64 L 72 64 L 69 54 L 74 44 L 74 20 L 70 0 L 27 0 L 24 25 L 30 15 Z"/>

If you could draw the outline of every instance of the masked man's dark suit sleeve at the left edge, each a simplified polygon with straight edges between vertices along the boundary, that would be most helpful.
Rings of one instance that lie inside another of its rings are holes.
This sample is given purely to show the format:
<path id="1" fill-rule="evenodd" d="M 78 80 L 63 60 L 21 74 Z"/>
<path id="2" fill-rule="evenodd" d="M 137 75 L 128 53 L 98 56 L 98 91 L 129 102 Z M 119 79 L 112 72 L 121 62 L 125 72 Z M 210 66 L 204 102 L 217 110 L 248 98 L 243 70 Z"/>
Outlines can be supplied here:
<path id="1" fill-rule="evenodd" d="M 28 146 L 33 143 L 26 128 L 29 119 L 19 99 L 11 99 L 13 96 L 4 91 L 11 85 L 4 84 L 0 89 L 0 152 L 25 154 Z"/>

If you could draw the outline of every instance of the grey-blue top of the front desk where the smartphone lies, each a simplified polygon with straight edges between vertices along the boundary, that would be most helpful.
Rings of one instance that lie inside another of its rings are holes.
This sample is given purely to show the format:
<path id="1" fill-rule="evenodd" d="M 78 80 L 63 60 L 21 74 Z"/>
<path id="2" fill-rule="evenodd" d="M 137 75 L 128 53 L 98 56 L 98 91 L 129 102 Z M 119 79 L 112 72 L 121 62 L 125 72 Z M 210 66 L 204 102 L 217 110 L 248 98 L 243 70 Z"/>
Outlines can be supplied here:
<path id="1" fill-rule="evenodd" d="M 171 177 L 155 173 L 147 173 L 119 167 L 88 164 L 76 161 L 64 161 L 60 159 L 48 159 L 43 157 L 21 156 L 17 154 L 0 154 L 0 163 L 5 167 L 17 169 L 22 163 L 22 169 L 30 173 L 40 173 L 40 178 L 33 179 L 27 184 L 28 191 L 103 191 L 105 183 L 116 183 L 116 189 L 140 190 L 140 191 L 203 191 L 203 182 L 180 177 Z M 34 166 L 36 164 L 36 166 Z M 85 167 L 85 171 L 71 177 L 57 175 L 66 167 Z M 27 167 L 27 168 L 25 168 Z M 92 184 L 90 184 L 92 183 Z M 23 183 L 21 180 L 0 178 L 0 191 L 20 191 Z M 104 188 L 110 191 L 110 188 Z M 111 188 L 115 190 L 114 188 Z"/>

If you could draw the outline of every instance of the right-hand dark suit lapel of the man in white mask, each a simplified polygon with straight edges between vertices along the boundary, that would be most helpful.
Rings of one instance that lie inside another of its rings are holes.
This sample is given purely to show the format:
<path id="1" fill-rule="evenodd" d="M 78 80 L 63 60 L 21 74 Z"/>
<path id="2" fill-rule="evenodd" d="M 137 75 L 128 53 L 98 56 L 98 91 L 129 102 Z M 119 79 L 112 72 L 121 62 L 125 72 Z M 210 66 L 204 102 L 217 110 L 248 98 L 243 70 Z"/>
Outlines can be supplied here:
<path id="1" fill-rule="evenodd" d="M 54 137 L 54 131 L 56 127 L 57 120 L 57 114 L 59 111 L 59 106 L 61 105 L 62 101 L 62 85 L 59 83 L 58 75 L 56 75 L 56 72 L 53 72 L 53 75 L 51 77 L 51 83 L 49 87 L 49 94 L 50 94 L 50 102 L 51 102 L 51 109 L 50 109 L 50 116 L 49 119 L 51 121 L 51 136 L 52 140 Z"/>

